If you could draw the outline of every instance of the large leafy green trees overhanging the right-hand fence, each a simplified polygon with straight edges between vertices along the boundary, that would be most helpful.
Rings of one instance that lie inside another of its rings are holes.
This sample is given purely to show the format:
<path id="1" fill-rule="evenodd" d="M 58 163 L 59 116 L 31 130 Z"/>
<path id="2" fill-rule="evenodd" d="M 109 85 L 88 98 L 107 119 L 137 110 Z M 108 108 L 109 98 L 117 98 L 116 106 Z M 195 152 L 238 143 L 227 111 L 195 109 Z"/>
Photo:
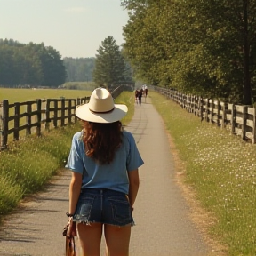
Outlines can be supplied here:
<path id="1" fill-rule="evenodd" d="M 256 96 L 256 1 L 122 0 L 123 51 L 136 78 L 250 105 Z"/>

